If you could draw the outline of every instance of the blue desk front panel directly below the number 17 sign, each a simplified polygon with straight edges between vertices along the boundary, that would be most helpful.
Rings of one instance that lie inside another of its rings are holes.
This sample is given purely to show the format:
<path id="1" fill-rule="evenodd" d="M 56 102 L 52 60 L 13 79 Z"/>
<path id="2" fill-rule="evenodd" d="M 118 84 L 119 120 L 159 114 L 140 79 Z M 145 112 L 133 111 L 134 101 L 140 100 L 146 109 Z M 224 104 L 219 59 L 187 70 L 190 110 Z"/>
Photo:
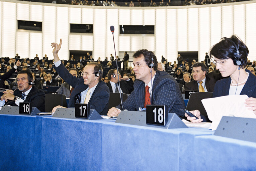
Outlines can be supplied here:
<path id="1" fill-rule="evenodd" d="M 105 122 L 113 121 L 43 118 L 40 170 L 100 170 Z"/>

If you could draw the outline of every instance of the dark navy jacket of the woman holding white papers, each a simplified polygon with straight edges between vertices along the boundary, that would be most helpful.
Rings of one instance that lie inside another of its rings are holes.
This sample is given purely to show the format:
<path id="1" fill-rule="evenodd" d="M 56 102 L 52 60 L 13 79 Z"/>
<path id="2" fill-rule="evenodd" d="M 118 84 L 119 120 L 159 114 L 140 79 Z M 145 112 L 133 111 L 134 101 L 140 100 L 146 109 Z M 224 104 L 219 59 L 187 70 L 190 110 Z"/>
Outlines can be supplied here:
<path id="1" fill-rule="evenodd" d="M 253 97 L 256 98 L 256 76 L 249 72 L 249 77 L 244 84 L 244 88 L 242 89 L 240 95 L 247 95 L 249 98 Z M 220 97 L 220 96 L 227 96 L 229 95 L 229 88 L 230 88 L 231 78 L 224 78 L 216 82 L 213 97 Z"/>

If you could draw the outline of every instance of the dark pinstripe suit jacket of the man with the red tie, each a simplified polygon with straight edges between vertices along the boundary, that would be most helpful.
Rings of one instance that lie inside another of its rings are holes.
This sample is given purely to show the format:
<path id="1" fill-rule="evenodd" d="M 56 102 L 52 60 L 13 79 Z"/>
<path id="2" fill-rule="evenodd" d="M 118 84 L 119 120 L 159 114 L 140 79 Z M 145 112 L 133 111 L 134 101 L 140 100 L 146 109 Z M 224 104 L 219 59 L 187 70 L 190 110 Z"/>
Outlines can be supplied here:
<path id="1" fill-rule="evenodd" d="M 177 81 L 167 72 L 156 71 L 151 93 L 151 104 L 166 105 L 169 113 L 176 113 L 184 117 L 184 113 L 179 109 L 185 109 Z M 145 83 L 141 80 L 134 82 L 134 91 L 123 102 L 123 108 L 128 111 L 138 111 L 144 107 L 145 102 Z M 116 108 L 122 109 L 121 105 Z"/>

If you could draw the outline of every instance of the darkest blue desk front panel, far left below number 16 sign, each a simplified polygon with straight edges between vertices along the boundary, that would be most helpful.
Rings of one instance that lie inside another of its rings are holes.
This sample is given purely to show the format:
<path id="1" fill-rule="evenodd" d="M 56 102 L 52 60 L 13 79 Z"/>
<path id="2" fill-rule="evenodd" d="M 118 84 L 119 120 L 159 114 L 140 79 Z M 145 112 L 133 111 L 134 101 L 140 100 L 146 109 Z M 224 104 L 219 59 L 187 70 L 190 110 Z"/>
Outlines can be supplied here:
<path id="1" fill-rule="evenodd" d="M 0 115 L 0 170 L 39 170 L 42 117 Z"/>

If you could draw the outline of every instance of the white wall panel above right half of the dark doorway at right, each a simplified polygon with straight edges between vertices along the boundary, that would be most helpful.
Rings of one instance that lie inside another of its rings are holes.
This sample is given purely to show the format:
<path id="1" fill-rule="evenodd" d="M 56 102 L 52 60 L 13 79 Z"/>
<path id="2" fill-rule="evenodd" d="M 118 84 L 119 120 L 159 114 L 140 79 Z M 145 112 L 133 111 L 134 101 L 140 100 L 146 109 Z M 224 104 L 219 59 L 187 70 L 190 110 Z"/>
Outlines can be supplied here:
<path id="1" fill-rule="evenodd" d="M 198 51 L 198 8 L 188 9 L 188 51 Z"/>

